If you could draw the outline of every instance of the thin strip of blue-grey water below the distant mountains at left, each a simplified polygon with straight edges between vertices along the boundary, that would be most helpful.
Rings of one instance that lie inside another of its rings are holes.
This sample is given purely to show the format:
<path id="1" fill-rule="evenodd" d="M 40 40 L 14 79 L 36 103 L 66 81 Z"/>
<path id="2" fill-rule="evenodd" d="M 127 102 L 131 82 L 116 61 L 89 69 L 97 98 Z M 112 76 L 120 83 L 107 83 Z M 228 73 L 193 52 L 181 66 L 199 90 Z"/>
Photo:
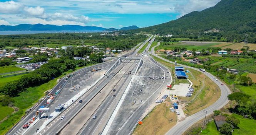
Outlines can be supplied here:
<path id="1" fill-rule="evenodd" d="M 37 33 L 97 33 L 101 31 L 0 31 L 0 35 L 37 34 Z"/>

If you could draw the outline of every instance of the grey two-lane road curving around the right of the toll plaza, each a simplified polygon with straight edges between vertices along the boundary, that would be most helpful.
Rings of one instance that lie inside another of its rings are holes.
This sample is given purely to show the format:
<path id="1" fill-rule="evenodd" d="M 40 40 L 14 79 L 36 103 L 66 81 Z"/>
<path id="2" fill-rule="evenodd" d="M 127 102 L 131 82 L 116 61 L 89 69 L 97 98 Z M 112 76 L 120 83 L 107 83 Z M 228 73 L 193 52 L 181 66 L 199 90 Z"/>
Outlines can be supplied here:
<path id="1" fill-rule="evenodd" d="M 160 43 L 158 42 L 157 46 L 159 46 L 159 45 L 160 45 Z M 170 60 L 167 60 L 167 59 L 164 59 L 164 58 L 158 56 L 157 54 L 155 54 L 154 48 L 157 47 L 157 46 L 152 47 L 151 54 L 158 57 L 159 59 L 162 59 L 162 60 L 166 61 L 166 62 L 175 64 L 174 62 L 172 62 Z M 182 64 L 178 64 L 178 63 L 177 63 L 177 65 L 186 67 L 186 65 L 182 65 Z M 197 68 L 189 67 L 189 66 L 187 66 L 187 67 L 191 68 L 193 70 L 197 70 L 199 72 L 202 72 Z M 207 111 L 207 115 L 210 115 L 210 114 L 213 113 L 214 110 L 218 110 L 218 109 L 222 108 L 223 106 L 225 106 L 228 103 L 229 100 L 228 100 L 227 96 L 231 93 L 231 91 L 229 90 L 228 86 L 221 85 L 221 83 L 222 83 L 221 81 L 214 80 L 214 78 L 213 78 L 214 76 L 212 74 L 210 74 L 208 72 L 202 72 L 202 73 L 204 73 L 206 76 L 208 76 L 221 89 L 220 98 L 214 104 L 212 104 L 211 106 L 204 109 L 204 110 Z M 174 127 L 172 127 L 166 133 L 166 135 L 182 135 L 182 133 L 184 133 L 189 127 L 191 127 L 193 124 L 195 124 L 197 121 L 203 119 L 204 117 L 205 117 L 205 113 L 204 113 L 203 110 L 201 110 L 201 111 L 197 112 L 196 114 L 193 114 L 193 115 L 187 117 L 185 120 L 183 120 L 181 122 L 178 122 Z"/>

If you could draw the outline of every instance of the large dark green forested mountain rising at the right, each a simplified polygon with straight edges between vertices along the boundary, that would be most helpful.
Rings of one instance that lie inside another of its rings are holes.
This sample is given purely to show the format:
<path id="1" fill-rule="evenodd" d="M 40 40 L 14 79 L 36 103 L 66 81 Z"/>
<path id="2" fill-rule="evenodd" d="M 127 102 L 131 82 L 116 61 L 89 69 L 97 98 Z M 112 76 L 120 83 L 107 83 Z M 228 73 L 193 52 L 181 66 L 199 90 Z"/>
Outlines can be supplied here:
<path id="1" fill-rule="evenodd" d="M 256 0 L 221 0 L 200 12 L 193 11 L 177 20 L 133 31 L 190 38 L 224 37 L 227 41 L 243 41 L 246 33 L 248 42 L 256 42 Z"/>

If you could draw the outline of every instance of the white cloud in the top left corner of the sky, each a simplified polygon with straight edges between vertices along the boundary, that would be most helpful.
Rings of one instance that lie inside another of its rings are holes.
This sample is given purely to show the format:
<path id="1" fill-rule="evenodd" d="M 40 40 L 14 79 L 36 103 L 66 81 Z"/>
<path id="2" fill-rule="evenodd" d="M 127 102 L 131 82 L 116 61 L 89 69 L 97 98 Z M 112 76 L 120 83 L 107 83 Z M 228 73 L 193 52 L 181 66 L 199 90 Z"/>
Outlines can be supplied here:
<path id="1" fill-rule="evenodd" d="M 23 4 L 13 1 L 0 2 L 0 13 L 17 13 L 22 7 Z"/>

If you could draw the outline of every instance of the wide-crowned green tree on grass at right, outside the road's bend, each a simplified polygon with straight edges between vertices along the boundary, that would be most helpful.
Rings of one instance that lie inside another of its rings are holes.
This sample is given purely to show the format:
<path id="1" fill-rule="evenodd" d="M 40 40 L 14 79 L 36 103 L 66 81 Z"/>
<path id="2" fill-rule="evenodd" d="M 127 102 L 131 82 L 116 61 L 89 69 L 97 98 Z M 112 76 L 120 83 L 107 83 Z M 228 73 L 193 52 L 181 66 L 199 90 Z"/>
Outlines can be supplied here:
<path id="1" fill-rule="evenodd" d="M 236 101 L 238 103 L 238 106 L 240 107 L 241 102 L 246 104 L 247 101 L 249 101 L 251 96 L 248 94 L 244 94 L 241 92 L 235 92 L 228 95 L 228 99 L 231 101 Z"/>

